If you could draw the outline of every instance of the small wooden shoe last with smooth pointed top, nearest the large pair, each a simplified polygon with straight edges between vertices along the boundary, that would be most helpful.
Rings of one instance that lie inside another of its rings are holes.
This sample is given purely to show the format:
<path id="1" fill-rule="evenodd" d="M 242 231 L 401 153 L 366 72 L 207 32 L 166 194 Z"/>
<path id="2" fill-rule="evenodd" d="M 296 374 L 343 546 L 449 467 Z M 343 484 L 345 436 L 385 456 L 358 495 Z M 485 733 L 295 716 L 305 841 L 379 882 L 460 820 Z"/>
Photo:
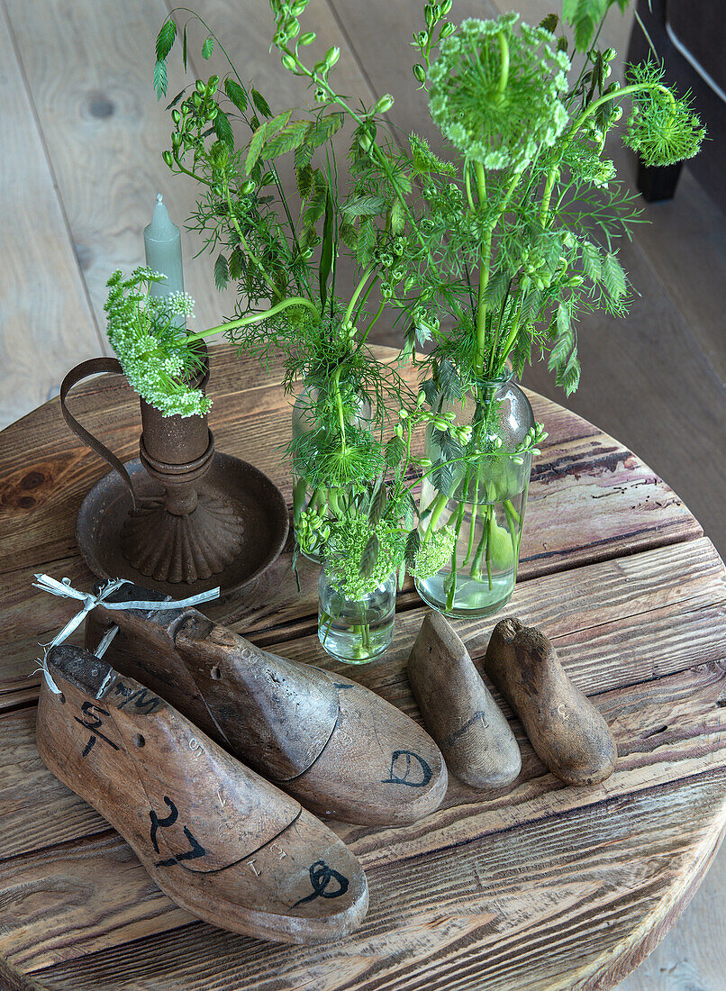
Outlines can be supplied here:
<path id="1" fill-rule="evenodd" d="M 447 767 L 472 788 L 504 788 L 522 768 L 514 733 L 467 648 L 439 612 L 427 612 L 408 659 L 408 680 Z"/>

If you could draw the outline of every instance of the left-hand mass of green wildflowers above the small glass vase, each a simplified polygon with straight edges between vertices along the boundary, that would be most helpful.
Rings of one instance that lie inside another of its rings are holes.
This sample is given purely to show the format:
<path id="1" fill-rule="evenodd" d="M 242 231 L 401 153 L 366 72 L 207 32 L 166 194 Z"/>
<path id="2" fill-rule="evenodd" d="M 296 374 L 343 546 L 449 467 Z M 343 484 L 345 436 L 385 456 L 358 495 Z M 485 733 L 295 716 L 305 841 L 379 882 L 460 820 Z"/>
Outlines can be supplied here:
<path id="1" fill-rule="evenodd" d="M 402 475 L 414 468 L 410 445 L 407 457 L 393 462 L 384 433 L 391 416 L 410 408 L 416 419 L 421 410 L 398 368 L 378 361 L 366 342 L 411 273 L 409 242 L 419 250 L 425 242 L 408 205 L 418 174 L 414 156 L 398 150 L 380 128 L 392 97 L 354 107 L 332 83 L 339 50 L 307 59 L 316 41 L 299 21 L 307 2 L 271 0 L 270 7 L 272 48 L 307 85 L 308 111 L 272 109 L 209 32 L 202 55 L 219 46 L 229 73 L 196 79 L 171 100 L 170 148 L 163 158 L 173 172 L 199 184 L 191 227 L 215 258 L 217 285 L 237 284 L 236 312 L 221 329 L 262 361 L 281 355 L 288 391 L 304 385 L 287 448 L 297 477 L 296 553 L 324 557 L 355 596 L 383 571 L 400 570 L 416 528 L 415 501 Z M 177 38 L 169 16 L 156 40 L 159 95 Z M 181 42 L 186 68 L 186 26 Z M 235 137 L 238 124 L 249 131 L 242 145 Z M 351 135 L 344 168 L 332 139 L 345 125 Z M 283 157 L 291 160 L 299 208 L 280 178 Z M 345 254 L 357 270 L 348 296 L 340 292 Z M 433 566 L 433 546 L 418 564 L 408 549 L 412 567 L 423 569 L 424 561 Z"/>

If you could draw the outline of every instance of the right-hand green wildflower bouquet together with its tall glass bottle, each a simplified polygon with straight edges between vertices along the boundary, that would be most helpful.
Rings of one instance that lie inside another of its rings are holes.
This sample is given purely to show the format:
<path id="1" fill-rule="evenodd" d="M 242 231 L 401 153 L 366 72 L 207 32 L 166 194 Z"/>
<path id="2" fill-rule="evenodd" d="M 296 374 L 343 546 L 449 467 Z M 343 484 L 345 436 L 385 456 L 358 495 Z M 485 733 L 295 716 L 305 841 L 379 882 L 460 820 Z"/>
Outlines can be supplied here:
<path id="1" fill-rule="evenodd" d="M 426 28 L 414 36 L 414 75 L 455 157 L 424 183 L 421 289 L 397 300 L 412 315 L 411 335 L 433 337 L 427 400 L 470 428 L 466 444 L 432 426 L 427 436 L 434 471 L 422 489 L 421 540 L 448 525 L 457 546 L 417 588 L 447 614 L 492 612 L 514 589 L 532 456 L 546 434 L 513 378 L 534 350 L 549 355 L 570 394 L 578 318 L 627 312 L 615 242 L 638 211 L 604 157 L 622 101 L 632 100 L 623 140 L 649 165 L 694 155 L 704 135 L 655 61 L 630 66 L 625 85 L 608 82 L 615 53 L 591 44 L 598 22 L 582 7 L 565 5 L 585 53 L 573 80 L 570 41 L 555 35 L 567 25 L 555 15 L 536 28 L 510 13 L 455 30 L 444 0 L 426 4 Z"/>

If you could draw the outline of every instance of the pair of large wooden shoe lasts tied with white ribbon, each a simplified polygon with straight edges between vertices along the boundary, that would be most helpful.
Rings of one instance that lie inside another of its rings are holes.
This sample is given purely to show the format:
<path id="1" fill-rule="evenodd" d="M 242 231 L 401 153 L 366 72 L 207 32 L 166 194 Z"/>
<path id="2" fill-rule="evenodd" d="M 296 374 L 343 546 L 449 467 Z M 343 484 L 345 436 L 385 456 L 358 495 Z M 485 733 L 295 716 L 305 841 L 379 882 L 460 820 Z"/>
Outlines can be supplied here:
<path id="1" fill-rule="evenodd" d="M 131 585 L 115 595 L 164 598 Z M 114 624 L 99 659 L 91 651 Z M 312 813 L 395 826 L 432 812 L 447 770 L 431 737 L 355 682 L 259 650 L 195 609 L 101 605 L 86 645 L 49 651 L 59 694 L 42 682 L 41 757 L 159 888 L 248 936 L 354 930 L 368 904 L 363 868 Z"/>

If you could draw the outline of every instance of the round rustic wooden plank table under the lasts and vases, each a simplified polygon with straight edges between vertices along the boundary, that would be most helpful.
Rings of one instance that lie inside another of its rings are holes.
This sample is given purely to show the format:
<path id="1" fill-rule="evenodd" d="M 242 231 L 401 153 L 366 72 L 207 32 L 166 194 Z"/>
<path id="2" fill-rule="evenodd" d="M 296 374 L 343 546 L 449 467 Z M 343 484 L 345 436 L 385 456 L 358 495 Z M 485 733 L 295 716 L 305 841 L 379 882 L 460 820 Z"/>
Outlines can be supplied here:
<path id="1" fill-rule="evenodd" d="M 279 450 L 289 398 L 226 347 L 213 350 L 209 391 L 218 450 L 259 466 L 289 499 Z M 76 392 L 79 418 L 135 457 L 138 402 L 123 380 Z M 594 697 L 617 740 L 617 769 L 602 785 L 566 787 L 508 713 L 522 749 L 512 788 L 484 795 L 452 779 L 443 806 L 414 826 L 334 826 L 361 858 L 370 910 L 353 936 L 317 947 L 195 921 L 42 764 L 37 644 L 73 608 L 31 582 L 46 572 L 93 584 L 74 521 L 106 468 L 67 430 L 57 400 L 0 434 L 0 984 L 570 991 L 613 987 L 655 947 L 726 825 L 726 573 L 686 507 L 634 454 L 555 403 L 532 401 L 550 436 L 507 612 L 541 625 Z M 224 606 L 232 625 L 284 656 L 345 670 L 419 718 L 405 676 L 424 611 L 415 593 L 399 595 L 385 657 L 344 669 L 317 641 L 315 569 L 301 566 L 298 593 L 289 565 L 288 553 L 244 602 Z M 474 659 L 495 618 L 455 622 Z"/>

